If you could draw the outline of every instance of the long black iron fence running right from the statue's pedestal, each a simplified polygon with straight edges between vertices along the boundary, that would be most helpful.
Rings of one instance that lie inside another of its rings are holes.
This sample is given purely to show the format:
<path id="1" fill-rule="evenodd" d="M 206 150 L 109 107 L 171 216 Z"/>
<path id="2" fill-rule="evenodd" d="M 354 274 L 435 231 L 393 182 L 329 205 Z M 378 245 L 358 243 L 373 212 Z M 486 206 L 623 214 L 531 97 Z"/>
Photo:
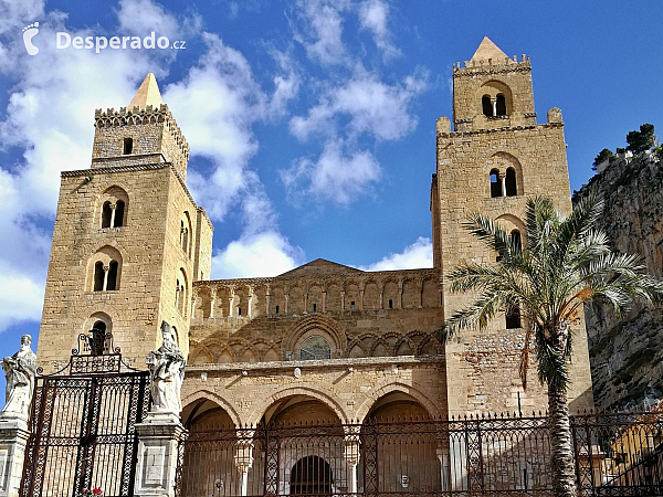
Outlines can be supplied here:
<path id="1" fill-rule="evenodd" d="M 571 420 L 581 496 L 663 495 L 663 413 Z M 546 416 L 193 427 L 179 497 L 552 496 Z"/>

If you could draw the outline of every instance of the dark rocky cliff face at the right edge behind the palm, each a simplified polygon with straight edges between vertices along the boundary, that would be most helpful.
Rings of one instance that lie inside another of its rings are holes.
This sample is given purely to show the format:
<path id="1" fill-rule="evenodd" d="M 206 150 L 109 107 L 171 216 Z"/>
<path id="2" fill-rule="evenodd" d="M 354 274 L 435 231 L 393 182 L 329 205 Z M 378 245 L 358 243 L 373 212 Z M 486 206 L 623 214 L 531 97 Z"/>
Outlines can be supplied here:
<path id="1" fill-rule="evenodd" d="M 663 278 L 663 163 L 648 154 L 614 161 L 573 195 L 606 200 L 600 226 L 612 247 L 640 254 Z M 636 307 L 617 320 L 603 305 L 585 307 L 597 406 L 643 405 L 663 391 L 663 309 Z"/>

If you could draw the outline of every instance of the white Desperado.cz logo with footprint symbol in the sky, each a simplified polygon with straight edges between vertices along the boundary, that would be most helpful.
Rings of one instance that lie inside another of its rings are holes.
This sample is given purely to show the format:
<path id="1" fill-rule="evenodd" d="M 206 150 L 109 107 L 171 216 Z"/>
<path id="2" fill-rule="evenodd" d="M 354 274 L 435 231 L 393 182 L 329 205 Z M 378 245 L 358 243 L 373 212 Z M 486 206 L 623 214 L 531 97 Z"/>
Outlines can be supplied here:
<path id="1" fill-rule="evenodd" d="M 34 46 L 32 39 L 39 33 L 39 22 L 34 22 L 23 28 L 23 43 L 30 55 L 36 55 L 39 47 Z M 186 41 L 176 40 L 172 43 L 168 36 L 157 36 L 152 31 L 149 35 L 140 36 L 73 36 L 64 31 L 55 33 L 55 47 L 59 50 L 94 50 L 99 53 L 102 50 L 140 50 L 140 49 L 160 49 L 160 50 L 183 50 Z"/>

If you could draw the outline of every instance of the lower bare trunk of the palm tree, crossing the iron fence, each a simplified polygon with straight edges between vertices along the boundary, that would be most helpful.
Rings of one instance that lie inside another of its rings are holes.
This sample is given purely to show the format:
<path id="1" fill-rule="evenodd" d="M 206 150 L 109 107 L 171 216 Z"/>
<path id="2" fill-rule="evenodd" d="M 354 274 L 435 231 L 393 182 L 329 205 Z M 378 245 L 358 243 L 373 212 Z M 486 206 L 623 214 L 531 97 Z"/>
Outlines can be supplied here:
<path id="1" fill-rule="evenodd" d="M 555 497 L 576 497 L 576 468 L 569 406 L 565 391 L 548 387 L 548 422 Z"/>

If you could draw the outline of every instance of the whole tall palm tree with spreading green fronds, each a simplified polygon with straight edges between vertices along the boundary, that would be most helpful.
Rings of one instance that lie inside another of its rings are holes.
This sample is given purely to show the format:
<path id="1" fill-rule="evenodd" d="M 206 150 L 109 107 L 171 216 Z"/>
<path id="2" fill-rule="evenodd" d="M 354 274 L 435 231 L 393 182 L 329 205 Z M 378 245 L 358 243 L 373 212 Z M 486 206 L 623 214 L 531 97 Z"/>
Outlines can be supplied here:
<path id="1" fill-rule="evenodd" d="M 538 378 L 548 387 L 552 486 L 557 497 L 576 496 L 571 431 L 567 404 L 570 382 L 570 324 L 588 300 L 608 304 L 615 316 L 634 300 L 663 302 L 663 283 L 643 274 L 636 255 L 613 253 L 594 224 L 603 202 L 582 199 L 570 215 L 550 199 L 527 200 L 523 245 L 490 218 L 470 216 L 465 226 L 499 254 L 495 264 L 464 262 L 448 276 L 452 293 L 474 292 L 475 302 L 455 313 L 443 329 L 449 337 L 463 328 L 484 328 L 498 313 L 519 310 L 526 322 L 520 379 L 526 388 L 529 347 L 538 361 Z M 534 340 L 532 340 L 534 338 Z"/>

